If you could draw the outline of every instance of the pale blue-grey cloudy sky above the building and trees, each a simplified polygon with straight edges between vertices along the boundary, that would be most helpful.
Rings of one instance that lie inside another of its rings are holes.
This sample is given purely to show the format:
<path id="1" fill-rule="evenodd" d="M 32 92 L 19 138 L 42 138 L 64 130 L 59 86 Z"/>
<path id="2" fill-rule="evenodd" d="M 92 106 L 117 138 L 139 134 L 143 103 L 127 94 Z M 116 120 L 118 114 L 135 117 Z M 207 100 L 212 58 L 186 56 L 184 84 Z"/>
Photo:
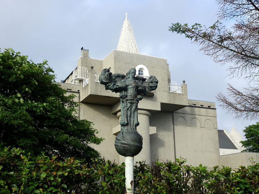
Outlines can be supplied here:
<path id="1" fill-rule="evenodd" d="M 190 39 L 169 32 L 172 23 L 211 26 L 218 5 L 208 0 L 0 0 L 0 48 L 12 48 L 34 63 L 44 59 L 56 81 L 64 80 L 77 66 L 81 47 L 91 58 L 103 59 L 117 49 L 125 13 L 132 25 L 140 54 L 166 58 L 171 80 L 188 87 L 188 98 L 216 103 L 218 129 L 232 126 L 244 135 L 245 126 L 258 121 L 233 119 L 216 101 L 227 92 L 227 83 L 241 89 L 246 80 L 226 77 L 221 66 L 199 51 Z M 233 21 L 227 22 L 227 25 Z M 157 67 L 159 70 L 159 66 Z M 116 73 L 116 72 L 113 72 Z"/>

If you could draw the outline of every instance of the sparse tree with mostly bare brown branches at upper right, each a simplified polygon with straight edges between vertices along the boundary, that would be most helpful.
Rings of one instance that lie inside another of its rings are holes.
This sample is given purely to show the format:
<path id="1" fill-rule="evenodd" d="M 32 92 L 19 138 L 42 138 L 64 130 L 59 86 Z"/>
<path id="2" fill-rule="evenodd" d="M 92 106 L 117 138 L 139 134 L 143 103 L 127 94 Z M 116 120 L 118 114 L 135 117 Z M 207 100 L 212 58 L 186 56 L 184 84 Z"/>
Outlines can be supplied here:
<path id="1" fill-rule="evenodd" d="M 210 27 L 201 24 L 175 23 L 169 31 L 184 34 L 200 46 L 213 61 L 230 62 L 230 76 L 244 77 L 250 82 L 259 79 L 259 1 L 258 0 L 216 0 L 220 20 L 235 20 L 227 28 L 219 20 Z M 228 85 L 228 95 L 219 93 L 221 106 L 236 118 L 253 120 L 259 118 L 259 88 L 248 85 L 244 92 Z"/>

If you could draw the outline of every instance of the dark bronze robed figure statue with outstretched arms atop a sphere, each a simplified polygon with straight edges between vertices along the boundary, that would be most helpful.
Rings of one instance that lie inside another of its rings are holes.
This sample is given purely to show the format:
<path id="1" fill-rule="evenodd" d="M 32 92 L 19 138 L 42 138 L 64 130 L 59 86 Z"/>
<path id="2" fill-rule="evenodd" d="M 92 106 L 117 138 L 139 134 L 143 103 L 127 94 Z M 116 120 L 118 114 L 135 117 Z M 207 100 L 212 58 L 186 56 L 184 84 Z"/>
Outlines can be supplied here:
<path id="1" fill-rule="evenodd" d="M 104 69 L 99 76 L 105 89 L 120 93 L 121 130 L 115 139 L 115 148 L 120 155 L 135 156 L 142 149 L 142 137 L 137 132 L 138 103 L 149 91 L 157 88 L 158 80 L 155 76 L 148 79 L 136 76 L 136 69 L 131 68 L 126 75 L 112 74 L 109 69 Z"/>

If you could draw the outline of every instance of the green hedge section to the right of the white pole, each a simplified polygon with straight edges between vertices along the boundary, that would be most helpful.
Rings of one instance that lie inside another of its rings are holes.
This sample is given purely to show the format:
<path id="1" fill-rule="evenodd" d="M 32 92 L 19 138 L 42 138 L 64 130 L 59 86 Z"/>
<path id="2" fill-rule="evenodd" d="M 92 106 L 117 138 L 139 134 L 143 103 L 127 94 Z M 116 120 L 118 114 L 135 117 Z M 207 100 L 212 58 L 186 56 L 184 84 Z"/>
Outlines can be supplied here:
<path id="1" fill-rule="evenodd" d="M 259 163 L 232 169 L 215 166 L 208 171 L 199 167 L 184 165 L 185 159 L 176 162 L 159 162 L 151 165 L 137 162 L 135 166 L 136 190 L 138 194 L 156 193 L 259 193 Z"/>

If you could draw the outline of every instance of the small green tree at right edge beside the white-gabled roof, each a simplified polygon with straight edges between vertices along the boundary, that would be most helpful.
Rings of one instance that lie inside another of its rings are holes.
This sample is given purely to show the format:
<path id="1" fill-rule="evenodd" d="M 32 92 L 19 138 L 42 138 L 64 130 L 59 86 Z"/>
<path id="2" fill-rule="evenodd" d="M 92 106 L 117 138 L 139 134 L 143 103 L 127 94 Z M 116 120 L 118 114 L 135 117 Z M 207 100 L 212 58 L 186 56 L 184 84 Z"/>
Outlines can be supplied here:
<path id="1" fill-rule="evenodd" d="M 243 132 L 246 137 L 246 140 L 241 141 L 246 148 L 243 152 L 259 152 L 259 123 L 245 127 Z"/>

